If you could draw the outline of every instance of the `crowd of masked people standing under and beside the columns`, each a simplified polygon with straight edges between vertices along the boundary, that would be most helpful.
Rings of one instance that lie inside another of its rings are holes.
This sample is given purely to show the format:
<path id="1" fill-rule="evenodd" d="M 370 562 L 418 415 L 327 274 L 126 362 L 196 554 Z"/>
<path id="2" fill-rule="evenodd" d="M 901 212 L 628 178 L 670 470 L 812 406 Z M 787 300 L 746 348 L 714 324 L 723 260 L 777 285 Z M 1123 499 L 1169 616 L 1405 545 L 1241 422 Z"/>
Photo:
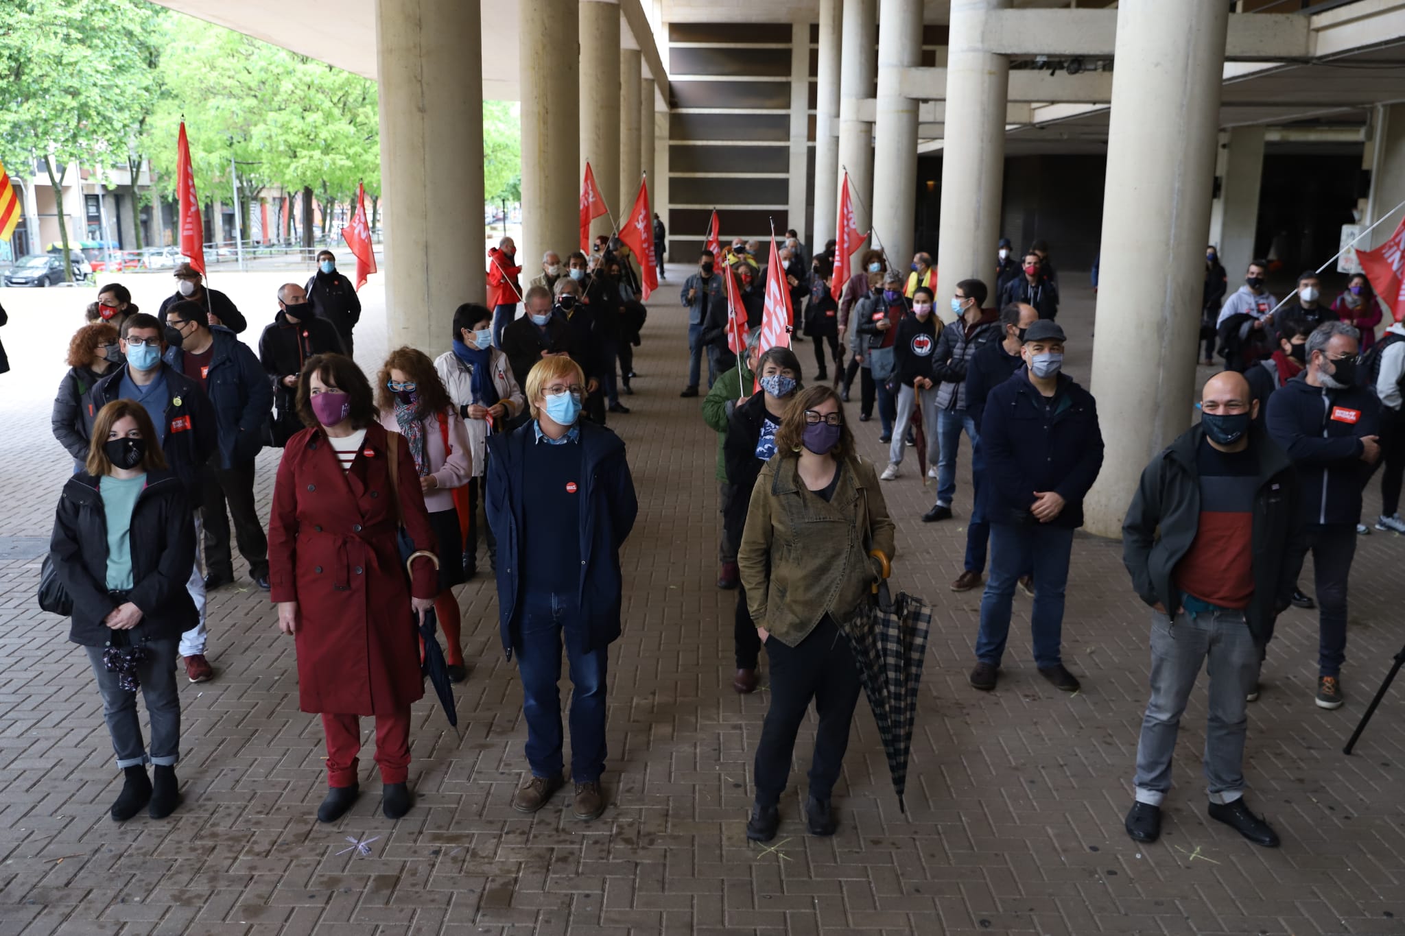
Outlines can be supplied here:
<path id="1" fill-rule="evenodd" d="M 805 821 L 815 835 L 837 827 L 832 791 L 860 689 L 842 627 L 894 559 L 884 487 L 902 481 L 909 448 L 924 464 L 919 476 L 936 481 L 920 519 L 967 521 L 951 591 L 984 585 L 969 685 L 998 686 L 1021 589 L 1033 598 L 1037 672 L 1079 690 L 1061 653 L 1065 588 L 1103 435 L 1093 396 L 1064 370 L 1071 338 L 1057 320 L 1045 243 L 1019 257 L 1002 240 L 989 282 L 939 282 L 924 251 L 901 271 L 868 250 L 833 289 L 835 241 L 812 254 L 787 232 L 777 258 L 784 283 L 773 286 L 791 297 L 795 327 L 776 347 L 762 342 L 769 274 L 757 251 L 742 239 L 704 250 L 679 299 L 688 348 L 680 396 L 702 397 L 718 435 L 717 585 L 736 591 L 732 688 L 754 692 L 763 650 L 767 660 L 746 825 L 764 842 L 778 829 L 811 702 L 819 731 Z M 548 251 L 525 288 L 513 239 L 489 250 L 488 264 L 486 302 L 445 310 L 447 349 L 392 349 L 374 382 L 351 359 L 361 307 L 330 251 L 305 285 L 277 290 L 257 352 L 239 337 L 249 319 L 188 265 L 174 271 L 176 292 L 156 316 L 119 283 L 98 290 L 53 406 L 53 435 L 74 473 L 49 560 L 73 598 L 70 640 L 87 648 L 124 772 L 114 820 L 142 808 L 159 818 L 178 804 L 174 674 L 215 675 L 207 596 L 233 581 L 235 546 L 275 605 L 280 631 L 295 640 L 301 709 L 322 716 L 327 793 L 318 818 L 336 821 L 360 794 L 360 717 L 375 720 L 382 810 L 405 815 L 414 801 L 409 733 L 410 704 L 424 693 L 422 641 L 437 640 L 426 623 L 443 630 L 448 678 L 465 679 L 452 589 L 478 574 L 481 539 L 503 650 L 523 685 L 528 776 L 513 807 L 534 813 L 565 786 L 565 651 L 573 814 L 593 820 L 607 808 L 608 647 L 621 634 L 620 550 L 638 501 L 625 446 L 606 420 L 629 413 L 621 396 L 638 376 L 639 272 L 610 237 L 565 262 Z M 1366 530 L 1361 490 L 1378 464 L 1377 528 L 1405 532 L 1397 512 L 1405 328 L 1377 337 L 1381 309 L 1364 278 L 1326 306 L 1305 274 L 1279 307 L 1264 264 L 1252 264 L 1228 299 L 1214 250 L 1205 269 L 1201 334 L 1227 368 L 1205 383 L 1198 422 L 1146 466 L 1124 528 L 1131 585 L 1152 615 L 1151 699 L 1127 832 L 1138 841 L 1161 832 L 1179 721 L 1208 660 L 1210 815 L 1276 845 L 1243 803 L 1246 706 L 1277 615 L 1314 603 L 1315 703 L 1342 704 L 1346 584 Z M 729 295 L 749 328 L 745 347 Z M 939 302 L 950 316 L 937 314 Z M 812 383 L 801 338 L 812 342 Z M 856 438 L 875 406 L 881 470 Z M 254 500 L 264 446 L 282 449 L 267 525 Z M 1298 587 L 1309 551 L 1315 601 Z"/>

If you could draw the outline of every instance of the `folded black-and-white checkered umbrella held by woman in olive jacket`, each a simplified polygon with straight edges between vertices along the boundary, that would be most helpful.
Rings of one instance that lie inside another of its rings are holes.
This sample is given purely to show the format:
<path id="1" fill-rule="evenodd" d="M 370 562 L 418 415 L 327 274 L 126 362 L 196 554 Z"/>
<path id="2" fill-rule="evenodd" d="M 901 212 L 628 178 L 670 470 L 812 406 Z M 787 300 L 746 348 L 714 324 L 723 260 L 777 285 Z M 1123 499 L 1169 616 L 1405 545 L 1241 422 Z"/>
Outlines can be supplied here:
<path id="1" fill-rule="evenodd" d="M 873 599 L 840 630 L 854 651 L 858 678 L 888 755 L 888 773 L 892 776 L 894 793 L 898 794 L 898 808 L 905 813 L 902 797 L 908 789 L 908 755 L 912 749 L 912 727 L 917 718 L 917 686 L 922 683 L 922 664 L 927 655 L 932 605 L 906 592 L 898 592 L 894 599 L 888 594 L 888 560 L 882 556 L 880 559 L 884 564 L 884 581 L 874 587 Z"/>

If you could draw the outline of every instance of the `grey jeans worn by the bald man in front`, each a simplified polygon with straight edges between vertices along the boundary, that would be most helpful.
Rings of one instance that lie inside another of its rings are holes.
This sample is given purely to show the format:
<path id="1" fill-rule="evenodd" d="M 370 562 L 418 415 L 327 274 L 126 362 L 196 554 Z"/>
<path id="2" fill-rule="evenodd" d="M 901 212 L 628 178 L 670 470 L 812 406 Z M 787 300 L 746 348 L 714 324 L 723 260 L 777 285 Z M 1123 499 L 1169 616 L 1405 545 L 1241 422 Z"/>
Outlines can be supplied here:
<path id="1" fill-rule="evenodd" d="M 1156 613 L 1151 626 L 1151 702 L 1137 744 L 1137 801 L 1161 805 L 1170 789 L 1170 758 L 1200 665 L 1210 672 L 1204 769 L 1211 803 L 1243 796 L 1245 696 L 1259 681 L 1259 648 L 1243 612 Z"/>

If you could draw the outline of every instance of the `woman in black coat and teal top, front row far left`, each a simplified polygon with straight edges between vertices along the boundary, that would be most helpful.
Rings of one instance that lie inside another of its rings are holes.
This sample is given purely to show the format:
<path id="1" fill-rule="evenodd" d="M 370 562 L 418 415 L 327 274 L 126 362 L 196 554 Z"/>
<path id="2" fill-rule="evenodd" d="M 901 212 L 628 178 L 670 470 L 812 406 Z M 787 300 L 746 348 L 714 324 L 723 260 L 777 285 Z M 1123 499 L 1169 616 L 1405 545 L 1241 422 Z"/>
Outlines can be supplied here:
<path id="1" fill-rule="evenodd" d="M 195 523 L 140 403 L 115 400 L 98 411 L 84 470 L 59 498 L 49 561 L 73 601 L 69 640 L 87 650 L 125 775 L 112 818 L 122 822 L 148 804 L 153 820 L 164 818 L 180 801 L 176 647 L 200 620 L 185 591 Z M 138 689 L 152 723 L 150 754 Z M 156 765 L 155 786 L 148 763 Z"/>

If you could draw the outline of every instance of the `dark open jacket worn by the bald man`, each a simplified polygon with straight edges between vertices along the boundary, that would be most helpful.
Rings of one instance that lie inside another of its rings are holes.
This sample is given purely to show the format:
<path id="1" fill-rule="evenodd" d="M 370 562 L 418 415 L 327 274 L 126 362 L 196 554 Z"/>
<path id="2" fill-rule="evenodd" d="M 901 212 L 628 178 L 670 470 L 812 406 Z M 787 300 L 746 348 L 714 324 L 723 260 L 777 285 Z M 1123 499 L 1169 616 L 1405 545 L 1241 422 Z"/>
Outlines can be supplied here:
<path id="1" fill-rule="evenodd" d="M 1148 605 L 1162 605 L 1172 617 L 1180 609 L 1173 575 L 1200 529 L 1200 473 L 1196 453 L 1205 438 L 1198 424 L 1154 457 L 1123 522 L 1123 564 L 1132 588 Z M 1249 449 L 1259 453 L 1253 497 L 1253 598 L 1245 609 L 1249 633 L 1260 647 L 1273 637 L 1273 623 L 1302 571 L 1307 532 L 1297 472 L 1287 453 L 1255 425 Z"/>

